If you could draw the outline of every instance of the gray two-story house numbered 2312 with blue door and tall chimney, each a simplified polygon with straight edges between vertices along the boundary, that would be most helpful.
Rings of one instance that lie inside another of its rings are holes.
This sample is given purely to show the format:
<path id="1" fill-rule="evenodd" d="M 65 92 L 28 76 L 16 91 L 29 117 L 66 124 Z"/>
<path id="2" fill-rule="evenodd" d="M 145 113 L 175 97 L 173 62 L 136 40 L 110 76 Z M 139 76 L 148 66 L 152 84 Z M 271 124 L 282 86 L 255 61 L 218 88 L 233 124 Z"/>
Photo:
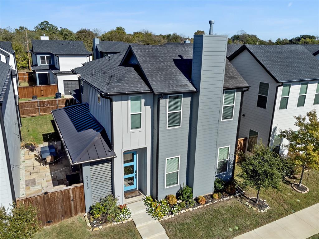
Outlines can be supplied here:
<path id="1" fill-rule="evenodd" d="M 130 45 L 73 69 L 82 104 L 52 111 L 71 164 L 81 164 L 86 209 L 113 193 L 194 197 L 233 176 L 242 95 L 227 36 L 193 44 Z M 94 69 L 94 72 L 93 72 Z M 78 139 L 75 141 L 74 139 Z"/>

